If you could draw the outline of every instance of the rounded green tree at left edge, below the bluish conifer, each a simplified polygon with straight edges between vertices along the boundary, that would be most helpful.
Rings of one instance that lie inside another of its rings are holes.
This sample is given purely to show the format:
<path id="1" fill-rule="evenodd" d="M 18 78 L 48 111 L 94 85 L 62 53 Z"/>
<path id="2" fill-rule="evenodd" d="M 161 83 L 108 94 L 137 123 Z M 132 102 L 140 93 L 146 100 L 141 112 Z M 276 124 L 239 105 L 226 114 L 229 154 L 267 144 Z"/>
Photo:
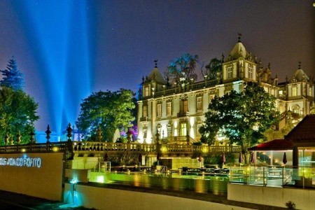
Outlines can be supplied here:
<path id="1" fill-rule="evenodd" d="M 22 90 L 12 90 L 8 87 L 0 89 L 0 136 L 9 135 L 16 142 L 20 132 L 21 144 L 29 142 L 29 134 L 34 131 L 34 122 L 39 119 L 36 115 L 38 104 Z"/>

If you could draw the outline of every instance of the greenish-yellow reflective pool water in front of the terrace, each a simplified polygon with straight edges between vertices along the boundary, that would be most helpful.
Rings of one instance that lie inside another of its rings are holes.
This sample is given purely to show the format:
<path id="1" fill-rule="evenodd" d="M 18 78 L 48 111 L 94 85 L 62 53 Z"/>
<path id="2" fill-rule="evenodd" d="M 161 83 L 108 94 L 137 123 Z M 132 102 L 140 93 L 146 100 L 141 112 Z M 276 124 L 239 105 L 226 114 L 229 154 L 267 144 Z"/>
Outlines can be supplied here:
<path id="1" fill-rule="evenodd" d="M 123 183 L 129 186 L 189 190 L 196 193 L 225 195 L 228 188 L 228 176 L 198 176 L 157 173 L 109 173 L 105 174 L 104 183 Z"/>

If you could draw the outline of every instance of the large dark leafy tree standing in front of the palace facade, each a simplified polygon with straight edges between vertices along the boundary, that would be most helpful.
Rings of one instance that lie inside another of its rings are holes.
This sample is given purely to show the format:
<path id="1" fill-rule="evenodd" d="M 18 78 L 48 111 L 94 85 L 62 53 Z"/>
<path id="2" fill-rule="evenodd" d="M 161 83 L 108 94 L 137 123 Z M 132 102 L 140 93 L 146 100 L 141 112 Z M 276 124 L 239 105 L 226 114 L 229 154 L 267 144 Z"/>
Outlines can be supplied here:
<path id="1" fill-rule="evenodd" d="M 265 141 L 264 132 L 279 123 L 275 97 L 257 83 L 247 83 L 242 92 L 233 90 L 223 97 L 215 97 L 208 109 L 200 127 L 201 141 L 213 144 L 217 134 L 223 135 L 231 144 L 241 146 L 243 154 L 259 140 Z"/>

